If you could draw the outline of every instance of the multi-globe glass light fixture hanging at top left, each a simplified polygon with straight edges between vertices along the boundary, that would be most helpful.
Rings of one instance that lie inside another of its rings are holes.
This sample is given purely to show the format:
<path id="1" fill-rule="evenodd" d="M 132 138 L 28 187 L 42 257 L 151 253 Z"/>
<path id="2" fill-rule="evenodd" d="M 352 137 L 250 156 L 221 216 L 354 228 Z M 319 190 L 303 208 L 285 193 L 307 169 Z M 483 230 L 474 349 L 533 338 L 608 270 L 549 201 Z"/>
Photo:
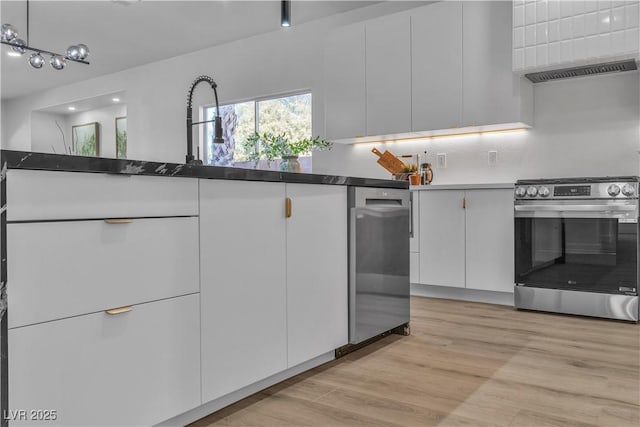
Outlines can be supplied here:
<path id="1" fill-rule="evenodd" d="M 89 56 L 89 48 L 82 43 L 69 46 L 64 55 L 29 46 L 29 0 L 27 0 L 27 41 L 18 38 L 18 30 L 13 25 L 2 24 L 0 42 L 11 46 L 10 54 L 13 56 L 22 56 L 28 50 L 33 52 L 28 60 L 33 68 L 42 68 L 46 62 L 43 54 L 49 55 L 49 64 L 55 70 L 62 70 L 67 65 L 67 61 L 89 64 L 86 60 Z"/>

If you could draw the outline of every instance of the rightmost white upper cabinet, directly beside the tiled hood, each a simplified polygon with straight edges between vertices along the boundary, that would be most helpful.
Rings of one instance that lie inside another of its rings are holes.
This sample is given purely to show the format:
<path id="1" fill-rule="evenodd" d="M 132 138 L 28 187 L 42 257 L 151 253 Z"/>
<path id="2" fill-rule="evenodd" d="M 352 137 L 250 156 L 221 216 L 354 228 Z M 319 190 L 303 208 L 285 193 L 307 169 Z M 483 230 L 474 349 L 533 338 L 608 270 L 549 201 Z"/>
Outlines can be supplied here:
<path id="1" fill-rule="evenodd" d="M 511 2 L 458 4 L 464 23 L 463 125 L 532 123 L 531 82 L 511 70 Z"/>

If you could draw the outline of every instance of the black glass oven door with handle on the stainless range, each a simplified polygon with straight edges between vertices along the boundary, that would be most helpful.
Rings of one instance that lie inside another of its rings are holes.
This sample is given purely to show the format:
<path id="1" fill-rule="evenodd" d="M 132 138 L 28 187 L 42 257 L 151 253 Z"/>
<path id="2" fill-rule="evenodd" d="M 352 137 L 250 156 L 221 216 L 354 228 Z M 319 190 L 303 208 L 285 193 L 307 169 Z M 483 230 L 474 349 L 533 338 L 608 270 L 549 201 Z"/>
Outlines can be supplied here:
<path id="1" fill-rule="evenodd" d="M 515 282 L 637 295 L 637 200 L 518 201 Z"/>

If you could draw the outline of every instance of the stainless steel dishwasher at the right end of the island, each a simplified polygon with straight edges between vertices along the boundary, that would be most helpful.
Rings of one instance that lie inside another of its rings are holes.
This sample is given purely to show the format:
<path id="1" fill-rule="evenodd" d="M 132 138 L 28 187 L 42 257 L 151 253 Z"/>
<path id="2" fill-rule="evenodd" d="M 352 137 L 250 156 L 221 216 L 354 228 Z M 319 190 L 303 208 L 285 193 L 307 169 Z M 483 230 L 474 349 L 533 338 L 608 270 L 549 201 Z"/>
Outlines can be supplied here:
<path id="1" fill-rule="evenodd" d="M 349 343 L 409 322 L 409 190 L 349 188 Z"/>

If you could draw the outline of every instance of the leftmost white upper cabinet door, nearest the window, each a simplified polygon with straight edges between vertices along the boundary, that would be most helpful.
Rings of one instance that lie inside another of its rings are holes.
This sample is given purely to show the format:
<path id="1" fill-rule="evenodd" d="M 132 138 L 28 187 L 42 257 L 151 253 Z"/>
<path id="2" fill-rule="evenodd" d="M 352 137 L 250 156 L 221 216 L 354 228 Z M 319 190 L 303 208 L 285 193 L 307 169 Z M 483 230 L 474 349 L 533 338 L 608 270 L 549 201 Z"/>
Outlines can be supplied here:
<path id="1" fill-rule="evenodd" d="M 325 137 L 364 136 L 364 24 L 333 31 L 325 45 Z"/>

